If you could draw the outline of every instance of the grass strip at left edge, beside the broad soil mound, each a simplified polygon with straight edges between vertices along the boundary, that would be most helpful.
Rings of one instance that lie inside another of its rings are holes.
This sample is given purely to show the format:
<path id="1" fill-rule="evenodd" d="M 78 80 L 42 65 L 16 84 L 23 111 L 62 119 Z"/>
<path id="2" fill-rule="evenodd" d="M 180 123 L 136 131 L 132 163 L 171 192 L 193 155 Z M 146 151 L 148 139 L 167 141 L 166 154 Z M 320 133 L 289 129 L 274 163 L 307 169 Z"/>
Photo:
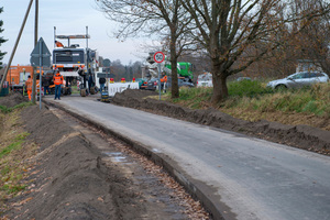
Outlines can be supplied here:
<path id="1" fill-rule="evenodd" d="M 21 111 L 30 103 L 21 103 L 14 108 L 1 108 L 0 129 L 0 215 L 9 207 L 9 199 L 22 194 L 28 186 L 23 180 L 33 166 L 28 163 L 37 146 L 26 140 L 30 135 L 23 130 Z"/>

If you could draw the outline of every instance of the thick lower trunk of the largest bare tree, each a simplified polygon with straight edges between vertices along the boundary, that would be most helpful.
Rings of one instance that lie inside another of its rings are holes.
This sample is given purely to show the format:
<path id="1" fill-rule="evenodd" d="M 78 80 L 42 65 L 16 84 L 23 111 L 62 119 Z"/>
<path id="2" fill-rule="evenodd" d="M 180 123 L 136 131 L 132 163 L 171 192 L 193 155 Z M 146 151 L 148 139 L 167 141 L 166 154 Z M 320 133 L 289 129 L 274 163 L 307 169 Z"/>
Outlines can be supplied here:
<path id="1" fill-rule="evenodd" d="M 211 74 L 213 82 L 211 102 L 212 105 L 218 105 L 228 97 L 227 74 L 221 72 L 221 65 L 217 61 L 212 61 Z"/>

